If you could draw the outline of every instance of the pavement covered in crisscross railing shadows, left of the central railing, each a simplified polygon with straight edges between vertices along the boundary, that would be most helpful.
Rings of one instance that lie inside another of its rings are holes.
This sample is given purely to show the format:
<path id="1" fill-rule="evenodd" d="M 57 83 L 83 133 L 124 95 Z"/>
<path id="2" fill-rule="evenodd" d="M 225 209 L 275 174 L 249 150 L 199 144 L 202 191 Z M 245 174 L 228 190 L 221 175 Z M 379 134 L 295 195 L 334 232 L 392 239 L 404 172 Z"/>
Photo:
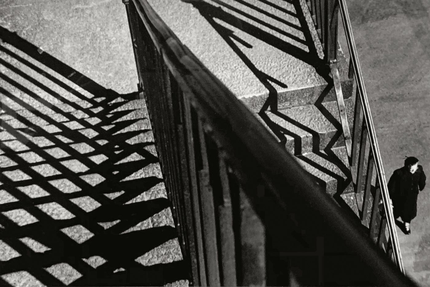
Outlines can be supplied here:
<path id="1" fill-rule="evenodd" d="M 0 285 L 187 280 L 143 100 L 0 37 Z"/>

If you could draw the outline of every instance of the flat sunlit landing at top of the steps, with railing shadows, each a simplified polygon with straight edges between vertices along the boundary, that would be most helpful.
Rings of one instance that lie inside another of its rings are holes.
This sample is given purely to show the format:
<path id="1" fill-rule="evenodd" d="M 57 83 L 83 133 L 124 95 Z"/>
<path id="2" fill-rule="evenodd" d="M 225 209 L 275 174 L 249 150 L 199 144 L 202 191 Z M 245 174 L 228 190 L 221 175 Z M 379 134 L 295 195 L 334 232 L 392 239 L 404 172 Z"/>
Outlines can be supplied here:
<path id="1" fill-rule="evenodd" d="M 312 66 L 322 49 L 303 0 L 149 2 L 238 97 L 326 83 Z"/>

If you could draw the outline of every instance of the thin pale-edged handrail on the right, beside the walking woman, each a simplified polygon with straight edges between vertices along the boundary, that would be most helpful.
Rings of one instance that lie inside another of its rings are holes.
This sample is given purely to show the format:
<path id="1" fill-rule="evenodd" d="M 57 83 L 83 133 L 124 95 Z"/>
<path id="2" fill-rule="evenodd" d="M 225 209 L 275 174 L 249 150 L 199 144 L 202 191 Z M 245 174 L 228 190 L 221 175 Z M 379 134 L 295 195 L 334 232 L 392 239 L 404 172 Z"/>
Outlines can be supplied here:
<path id="1" fill-rule="evenodd" d="M 375 167 L 378 173 L 378 179 L 381 186 L 382 198 L 384 203 L 384 209 L 387 214 L 387 225 L 390 232 L 391 241 L 393 244 L 393 254 L 396 260 L 396 264 L 400 271 L 405 274 L 403 267 L 402 254 L 399 247 L 399 239 L 397 236 L 396 225 L 393 216 L 393 209 L 390 204 L 390 195 L 388 193 L 387 180 L 385 178 L 384 166 L 382 165 L 381 153 L 379 151 L 378 139 L 376 138 L 375 126 L 373 124 L 372 113 L 370 111 L 369 99 L 367 97 L 360 62 L 357 55 L 357 49 L 355 40 L 351 28 L 351 21 L 348 13 L 348 8 L 345 0 L 339 0 L 339 6 L 342 16 L 342 22 L 345 29 L 345 35 L 347 38 L 348 48 L 350 51 L 350 61 L 353 63 L 354 77 L 357 83 L 357 89 L 361 99 L 361 105 L 363 109 L 364 119 L 367 126 L 367 132 L 370 140 L 370 147 L 372 149 L 373 156 L 375 157 Z"/>

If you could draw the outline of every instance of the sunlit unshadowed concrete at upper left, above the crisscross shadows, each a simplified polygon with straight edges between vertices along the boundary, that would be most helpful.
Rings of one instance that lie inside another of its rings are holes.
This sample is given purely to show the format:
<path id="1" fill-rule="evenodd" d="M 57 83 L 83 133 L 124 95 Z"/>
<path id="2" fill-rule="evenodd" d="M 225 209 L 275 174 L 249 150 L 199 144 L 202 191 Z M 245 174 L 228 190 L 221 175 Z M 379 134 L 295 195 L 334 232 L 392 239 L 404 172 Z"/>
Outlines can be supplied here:
<path id="1" fill-rule="evenodd" d="M 106 89 L 118 93 L 136 89 L 134 56 L 121 1 L 3 0 L 0 25 L 61 62 L 73 64 Z"/>

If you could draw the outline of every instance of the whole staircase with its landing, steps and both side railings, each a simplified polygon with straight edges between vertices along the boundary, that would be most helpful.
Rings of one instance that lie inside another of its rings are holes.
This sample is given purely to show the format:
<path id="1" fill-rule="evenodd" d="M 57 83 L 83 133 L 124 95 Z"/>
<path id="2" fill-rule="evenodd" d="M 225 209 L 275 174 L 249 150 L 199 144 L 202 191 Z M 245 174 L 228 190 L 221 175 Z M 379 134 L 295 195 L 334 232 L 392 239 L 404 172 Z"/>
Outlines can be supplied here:
<path id="1" fill-rule="evenodd" d="M 402 274 L 398 244 L 393 245 L 400 271 L 369 239 L 369 229 L 372 239 L 380 231 L 378 245 L 386 236 L 385 225 L 374 221 L 380 218 L 378 204 L 369 204 L 370 198 L 375 203 L 380 198 L 378 181 L 376 191 L 371 188 L 372 164 L 361 192 L 366 138 L 358 140 L 360 126 L 363 135 L 369 131 L 375 154 L 368 154 L 369 163 L 374 160 L 377 166 L 393 240 L 396 232 L 358 60 L 351 57 L 358 77 L 354 99 L 350 67 L 337 49 L 337 25 L 327 25 L 337 24 L 335 0 L 318 1 L 328 8 L 317 11 L 327 21 L 303 15 L 304 1 L 288 2 L 293 11 L 286 10 L 287 1 L 227 2 L 183 0 L 175 4 L 181 12 L 171 15 L 165 1 L 124 0 L 138 86 L 193 284 L 297 286 L 297 278 L 304 285 L 410 285 Z M 261 3 L 273 13 L 256 6 Z M 256 11 L 272 23 L 298 28 L 305 40 L 290 28 L 279 31 L 255 17 Z M 279 11 L 296 19 L 286 22 Z M 194 19 L 191 33 L 184 30 L 184 13 Z M 309 22 L 325 26 L 309 33 Z M 268 27 L 282 35 L 267 32 Z M 268 74 L 272 70 L 276 77 Z M 243 84 L 246 92 L 238 93 Z M 361 105 L 368 127 L 359 121 Z M 356 186 L 353 173 L 359 175 Z M 369 214 L 365 208 L 359 212 L 362 194 L 363 205 L 372 206 L 368 230 L 361 225 Z M 385 250 L 388 245 L 382 242 Z"/>

